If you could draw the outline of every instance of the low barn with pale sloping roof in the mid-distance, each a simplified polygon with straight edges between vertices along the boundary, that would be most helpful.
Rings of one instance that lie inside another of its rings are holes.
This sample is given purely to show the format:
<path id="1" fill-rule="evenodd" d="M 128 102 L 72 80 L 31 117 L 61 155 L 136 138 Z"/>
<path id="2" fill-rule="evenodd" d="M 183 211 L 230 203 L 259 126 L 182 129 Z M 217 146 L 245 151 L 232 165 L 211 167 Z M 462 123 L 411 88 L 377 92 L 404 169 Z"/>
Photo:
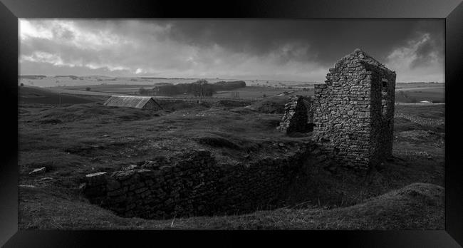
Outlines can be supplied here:
<path id="1" fill-rule="evenodd" d="M 113 95 L 106 100 L 105 105 L 123 108 L 162 109 L 161 105 L 150 96 Z"/>

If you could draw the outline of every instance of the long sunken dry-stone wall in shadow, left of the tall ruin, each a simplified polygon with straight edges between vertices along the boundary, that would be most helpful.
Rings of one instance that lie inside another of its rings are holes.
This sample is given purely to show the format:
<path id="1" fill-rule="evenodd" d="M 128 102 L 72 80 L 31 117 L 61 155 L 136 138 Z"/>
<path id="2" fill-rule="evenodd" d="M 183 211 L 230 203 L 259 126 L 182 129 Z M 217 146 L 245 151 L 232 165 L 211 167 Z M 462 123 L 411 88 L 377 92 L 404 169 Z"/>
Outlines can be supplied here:
<path id="1" fill-rule="evenodd" d="M 205 150 L 176 162 L 157 157 L 111 175 L 88 175 L 83 193 L 91 203 L 123 217 L 162 219 L 271 209 L 279 205 L 315 148 L 308 143 L 290 157 L 268 157 L 248 165 L 218 164 Z"/>

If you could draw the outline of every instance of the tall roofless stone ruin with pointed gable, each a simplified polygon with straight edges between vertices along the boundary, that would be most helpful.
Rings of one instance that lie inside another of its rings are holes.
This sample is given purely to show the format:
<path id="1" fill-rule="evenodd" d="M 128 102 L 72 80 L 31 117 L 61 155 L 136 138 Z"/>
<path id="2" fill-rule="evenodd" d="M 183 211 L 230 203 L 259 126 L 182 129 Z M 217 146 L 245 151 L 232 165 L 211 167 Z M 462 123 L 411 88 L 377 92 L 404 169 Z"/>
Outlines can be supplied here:
<path id="1" fill-rule="evenodd" d="M 392 156 L 395 72 L 360 49 L 315 85 L 313 138 L 340 165 L 367 170 Z"/>

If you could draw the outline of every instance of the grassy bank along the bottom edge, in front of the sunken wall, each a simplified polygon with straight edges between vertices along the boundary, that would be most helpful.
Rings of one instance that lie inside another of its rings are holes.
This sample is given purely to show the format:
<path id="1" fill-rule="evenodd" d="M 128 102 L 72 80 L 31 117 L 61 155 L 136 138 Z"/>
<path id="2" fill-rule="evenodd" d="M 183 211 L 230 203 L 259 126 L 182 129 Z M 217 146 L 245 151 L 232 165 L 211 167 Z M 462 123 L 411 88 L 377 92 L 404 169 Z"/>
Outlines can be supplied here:
<path id="1" fill-rule="evenodd" d="M 414 183 L 350 207 L 281 208 L 249 215 L 146 220 L 21 188 L 19 229 L 444 229 L 444 188 Z"/>

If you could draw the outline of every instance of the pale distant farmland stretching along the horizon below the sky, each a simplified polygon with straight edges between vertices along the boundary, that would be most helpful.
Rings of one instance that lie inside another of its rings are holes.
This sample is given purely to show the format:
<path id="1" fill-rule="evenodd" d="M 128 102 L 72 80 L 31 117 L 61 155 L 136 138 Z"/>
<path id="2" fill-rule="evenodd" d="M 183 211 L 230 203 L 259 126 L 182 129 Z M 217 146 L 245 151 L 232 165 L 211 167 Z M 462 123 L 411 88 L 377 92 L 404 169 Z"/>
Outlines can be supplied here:
<path id="1" fill-rule="evenodd" d="M 209 78 L 207 80 L 209 83 L 215 83 L 231 79 Z M 138 95 L 140 88 L 152 89 L 157 83 L 177 84 L 194 81 L 194 78 L 109 78 L 105 76 L 22 78 L 20 80 L 26 86 L 43 86 L 55 93 L 68 95 Z M 90 87 L 90 91 L 86 91 L 87 87 Z M 233 98 L 232 93 L 238 93 L 239 98 L 245 99 L 262 99 L 274 95 L 313 95 L 313 83 L 246 80 L 245 88 L 218 91 L 212 98 Z M 170 97 L 196 99 L 192 95 L 183 94 Z M 419 103 L 422 100 L 444 103 L 444 83 L 396 83 L 396 103 Z"/>

